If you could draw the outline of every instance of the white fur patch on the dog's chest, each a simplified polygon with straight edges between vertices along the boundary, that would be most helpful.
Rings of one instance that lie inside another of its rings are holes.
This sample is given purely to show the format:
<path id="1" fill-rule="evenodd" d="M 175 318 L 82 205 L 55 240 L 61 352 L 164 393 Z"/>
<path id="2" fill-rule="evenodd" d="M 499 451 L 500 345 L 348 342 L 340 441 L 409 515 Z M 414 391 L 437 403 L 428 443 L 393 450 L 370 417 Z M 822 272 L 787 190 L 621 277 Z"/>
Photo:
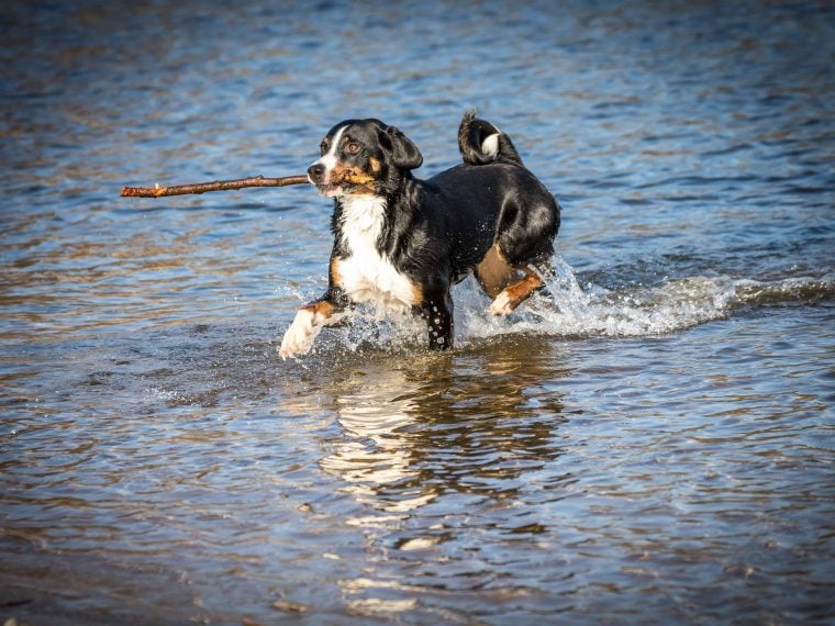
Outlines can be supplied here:
<path id="1" fill-rule="evenodd" d="M 345 198 L 342 243 L 348 256 L 338 266 L 339 286 L 354 302 L 374 303 L 389 312 L 407 313 L 417 304 L 414 283 L 377 250 L 385 211 L 382 198 Z"/>

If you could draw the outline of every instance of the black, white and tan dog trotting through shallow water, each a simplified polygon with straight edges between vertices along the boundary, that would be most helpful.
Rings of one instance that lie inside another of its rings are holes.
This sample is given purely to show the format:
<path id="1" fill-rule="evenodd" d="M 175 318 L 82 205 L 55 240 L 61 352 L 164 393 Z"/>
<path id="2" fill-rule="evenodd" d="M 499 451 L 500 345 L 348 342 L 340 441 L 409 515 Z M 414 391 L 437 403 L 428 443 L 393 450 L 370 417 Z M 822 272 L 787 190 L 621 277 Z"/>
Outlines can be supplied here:
<path id="1" fill-rule="evenodd" d="M 544 287 L 560 206 L 510 137 L 475 111 L 458 128 L 464 163 L 427 180 L 412 176 L 417 146 L 376 119 L 339 122 L 320 148 L 308 178 L 334 199 L 327 291 L 298 311 L 282 359 L 307 354 L 358 304 L 422 316 L 430 348 L 447 349 L 453 284 L 475 273 L 494 315 Z"/>

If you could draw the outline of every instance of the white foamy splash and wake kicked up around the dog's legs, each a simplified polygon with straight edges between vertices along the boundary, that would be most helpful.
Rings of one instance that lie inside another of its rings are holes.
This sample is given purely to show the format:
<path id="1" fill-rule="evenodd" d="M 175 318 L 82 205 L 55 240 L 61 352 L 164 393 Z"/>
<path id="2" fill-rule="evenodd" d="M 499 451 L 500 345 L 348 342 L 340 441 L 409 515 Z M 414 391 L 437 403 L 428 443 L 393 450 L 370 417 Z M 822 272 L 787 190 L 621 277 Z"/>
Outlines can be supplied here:
<path id="1" fill-rule="evenodd" d="M 561 258 L 555 257 L 553 262 L 547 290 L 506 317 L 488 312 L 489 299 L 475 279 L 456 286 L 456 344 L 471 345 L 519 334 L 566 338 L 656 336 L 725 318 L 745 309 L 835 299 L 835 273 L 776 280 L 693 276 L 605 289 L 581 284 Z M 365 309 L 335 335 L 337 344 L 349 351 L 368 345 L 403 349 L 425 343 L 425 326 L 413 317 L 390 318 Z"/>

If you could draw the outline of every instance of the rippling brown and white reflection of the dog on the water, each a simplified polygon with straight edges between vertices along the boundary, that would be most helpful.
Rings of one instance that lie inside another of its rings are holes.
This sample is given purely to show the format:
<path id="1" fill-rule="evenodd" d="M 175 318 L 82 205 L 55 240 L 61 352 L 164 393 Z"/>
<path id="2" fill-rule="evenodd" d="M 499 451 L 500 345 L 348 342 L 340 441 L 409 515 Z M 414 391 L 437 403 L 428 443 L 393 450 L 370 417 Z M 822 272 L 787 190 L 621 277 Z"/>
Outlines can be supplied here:
<path id="1" fill-rule="evenodd" d="M 520 342 L 346 368 L 332 388 L 343 431 L 320 466 L 359 502 L 405 513 L 445 493 L 516 498 L 559 454 L 565 421 L 553 345 Z"/>

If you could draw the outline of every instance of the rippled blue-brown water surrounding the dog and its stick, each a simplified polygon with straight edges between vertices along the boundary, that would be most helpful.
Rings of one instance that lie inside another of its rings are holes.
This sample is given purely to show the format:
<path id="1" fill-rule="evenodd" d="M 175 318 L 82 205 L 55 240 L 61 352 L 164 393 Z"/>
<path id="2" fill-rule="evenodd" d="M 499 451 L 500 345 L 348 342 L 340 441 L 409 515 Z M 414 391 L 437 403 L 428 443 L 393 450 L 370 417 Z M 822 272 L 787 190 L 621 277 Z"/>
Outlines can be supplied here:
<path id="1" fill-rule="evenodd" d="M 827 3 L 7 2 L 0 618 L 813 624 L 835 606 Z M 550 295 L 456 349 L 325 283 L 352 116 L 467 107 L 560 200 Z"/>

